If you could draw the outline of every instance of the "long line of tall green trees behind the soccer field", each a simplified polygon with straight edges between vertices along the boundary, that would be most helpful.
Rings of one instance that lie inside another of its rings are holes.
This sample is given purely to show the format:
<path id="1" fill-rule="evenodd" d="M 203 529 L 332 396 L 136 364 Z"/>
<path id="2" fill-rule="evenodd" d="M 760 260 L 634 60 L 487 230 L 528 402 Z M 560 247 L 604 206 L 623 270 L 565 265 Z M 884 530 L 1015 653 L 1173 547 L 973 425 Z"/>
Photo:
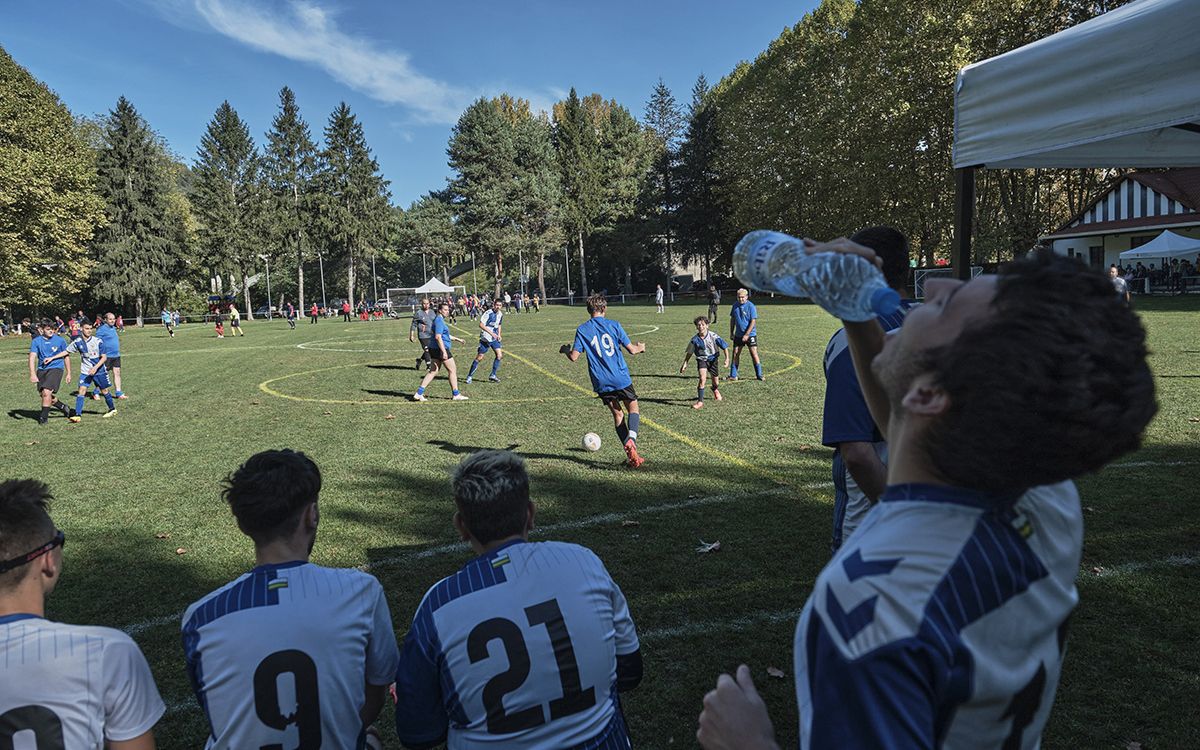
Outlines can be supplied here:
<path id="1" fill-rule="evenodd" d="M 629 293 L 679 263 L 720 277 L 756 228 L 829 238 L 888 223 L 934 265 L 952 240 L 956 72 L 1121 4 L 823 0 L 715 85 L 700 76 L 685 106 L 660 79 L 641 119 L 575 89 L 548 113 L 480 98 L 451 131 L 446 185 L 406 208 L 344 103 L 318 142 L 284 86 L 259 146 L 223 102 L 187 164 L 124 97 L 72 118 L 0 49 L 0 306 L 140 316 L 221 292 L 248 310 L 266 264 L 276 301 L 298 306 L 317 299 L 318 269 L 349 300 L 374 296 L 379 276 L 466 272 L 493 293 Z M 976 260 L 1024 252 L 1111 176 L 980 173 Z"/>

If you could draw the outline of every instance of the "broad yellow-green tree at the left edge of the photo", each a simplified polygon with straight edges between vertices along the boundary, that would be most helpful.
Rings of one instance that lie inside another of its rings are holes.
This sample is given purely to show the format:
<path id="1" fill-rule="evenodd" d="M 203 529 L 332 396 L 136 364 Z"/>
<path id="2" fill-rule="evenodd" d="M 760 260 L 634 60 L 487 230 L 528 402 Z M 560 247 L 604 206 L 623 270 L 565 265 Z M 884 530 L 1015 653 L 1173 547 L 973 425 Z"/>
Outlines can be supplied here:
<path id="1" fill-rule="evenodd" d="M 78 293 L 104 221 L 96 155 L 59 97 L 0 48 L 0 305 Z"/>

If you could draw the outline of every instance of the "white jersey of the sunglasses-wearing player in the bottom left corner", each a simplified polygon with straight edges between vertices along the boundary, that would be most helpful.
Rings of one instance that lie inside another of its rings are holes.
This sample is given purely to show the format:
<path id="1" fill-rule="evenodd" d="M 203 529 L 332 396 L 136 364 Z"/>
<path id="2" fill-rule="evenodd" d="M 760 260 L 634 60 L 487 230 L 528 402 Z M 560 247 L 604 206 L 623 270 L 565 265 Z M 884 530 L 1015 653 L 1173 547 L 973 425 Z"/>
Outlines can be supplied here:
<path id="1" fill-rule="evenodd" d="M 101 750 L 145 734 L 164 710 L 124 632 L 0 617 L 0 748 Z"/>

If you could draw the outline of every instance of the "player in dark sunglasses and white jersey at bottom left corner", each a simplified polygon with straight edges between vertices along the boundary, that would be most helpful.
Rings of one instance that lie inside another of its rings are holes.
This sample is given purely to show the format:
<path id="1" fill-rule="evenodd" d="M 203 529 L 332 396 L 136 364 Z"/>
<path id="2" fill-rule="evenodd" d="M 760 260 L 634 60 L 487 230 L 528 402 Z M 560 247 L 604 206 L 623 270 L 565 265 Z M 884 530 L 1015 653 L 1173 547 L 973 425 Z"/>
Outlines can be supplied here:
<path id="1" fill-rule="evenodd" d="M 154 750 L 166 707 L 137 644 L 46 619 L 66 541 L 49 500 L 40 481 L 0 484 L 0 748 Z"/>

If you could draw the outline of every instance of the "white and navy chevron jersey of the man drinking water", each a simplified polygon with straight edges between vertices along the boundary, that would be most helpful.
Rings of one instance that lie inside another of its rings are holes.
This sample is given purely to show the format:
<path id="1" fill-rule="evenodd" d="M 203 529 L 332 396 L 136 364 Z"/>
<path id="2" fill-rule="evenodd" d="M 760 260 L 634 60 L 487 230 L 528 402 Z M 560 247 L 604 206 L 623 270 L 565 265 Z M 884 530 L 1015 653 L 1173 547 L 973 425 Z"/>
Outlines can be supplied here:
<path id="1" fill-rule="evenodd" d="M 1037 748 L 1082 538 L 1069 481 L 888 487 L 800 614 L 800 748 Z"/>

